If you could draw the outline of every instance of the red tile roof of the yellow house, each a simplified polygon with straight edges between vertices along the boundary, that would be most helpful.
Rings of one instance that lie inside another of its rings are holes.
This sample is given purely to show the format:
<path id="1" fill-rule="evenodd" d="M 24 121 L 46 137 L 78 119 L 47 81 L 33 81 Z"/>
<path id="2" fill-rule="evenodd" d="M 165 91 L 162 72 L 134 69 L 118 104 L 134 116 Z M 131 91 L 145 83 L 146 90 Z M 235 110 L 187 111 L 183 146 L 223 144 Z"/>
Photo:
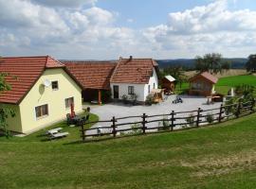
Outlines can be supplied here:
<path id="1" fill-rule="evenodd" d="M 11 90 L 0 94 L 0 103 L 19 104 L 46 68 L 64 67 L 61 62 L 45 57 L 1 58 L 0 73 L 8 73 Z"/>

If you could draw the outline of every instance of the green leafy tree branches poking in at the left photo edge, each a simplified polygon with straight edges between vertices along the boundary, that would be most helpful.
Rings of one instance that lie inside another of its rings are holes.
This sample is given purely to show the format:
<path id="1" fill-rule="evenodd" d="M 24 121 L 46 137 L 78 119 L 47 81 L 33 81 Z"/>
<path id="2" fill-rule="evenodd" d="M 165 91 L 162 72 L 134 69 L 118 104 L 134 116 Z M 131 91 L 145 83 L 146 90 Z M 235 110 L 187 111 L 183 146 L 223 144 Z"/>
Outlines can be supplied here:
<path id="1" fill-rule="evenodd" d="M 11 89 L 11 86 L 6 81 L 6 77 L 8 77 L 9 74 L 6 73 L 0 73 L 0 94 L 4 93 L 6 91 L 9 91 Z M 5 135 L 7 138 L 9 138 L 9 130 L 8 130 L 8 124 L 7 119 L 9 116 L 15 116 L 15 112 L 12 109 L 9 109 L 5 107 L 5 105 L 0 104 L 0 129 L 3 129 L 5 132 Z"/>

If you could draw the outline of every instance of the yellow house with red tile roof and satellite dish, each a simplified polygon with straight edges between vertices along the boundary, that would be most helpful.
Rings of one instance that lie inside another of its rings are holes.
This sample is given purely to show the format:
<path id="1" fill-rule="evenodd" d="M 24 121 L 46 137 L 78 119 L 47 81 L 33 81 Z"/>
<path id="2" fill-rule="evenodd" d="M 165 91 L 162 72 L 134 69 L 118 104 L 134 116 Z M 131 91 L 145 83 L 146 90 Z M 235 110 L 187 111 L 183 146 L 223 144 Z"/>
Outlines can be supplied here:
<path id="1" fill-rule="evenodd" d="M 2 58 L 0 72 L 11 90 L 0 94 L 0 107 L 15 111 L 8 118 L 9 130 L 30 133 L 61 121 L 74 104 L 82 112 L 82 85 L 51 57 Z"/>

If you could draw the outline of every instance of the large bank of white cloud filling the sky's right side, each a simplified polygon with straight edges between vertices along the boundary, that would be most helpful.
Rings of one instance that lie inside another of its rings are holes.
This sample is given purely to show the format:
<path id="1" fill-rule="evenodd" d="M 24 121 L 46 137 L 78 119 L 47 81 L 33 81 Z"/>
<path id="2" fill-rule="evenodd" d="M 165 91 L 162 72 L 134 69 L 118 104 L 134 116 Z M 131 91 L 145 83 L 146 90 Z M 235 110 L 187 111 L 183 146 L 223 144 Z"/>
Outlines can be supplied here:
<path id="1" fill-rule="evenodd" d="M 218 0 L 208 6 L 172 12 L 167 24 L 149 27 L 143 36 L 164 57 L 167 53 L 170 57 L 194 57 L 212 51 L 244 57 L 256 45 L 255 20 L 256 11 L 230 11 L 227 1 Z"/>

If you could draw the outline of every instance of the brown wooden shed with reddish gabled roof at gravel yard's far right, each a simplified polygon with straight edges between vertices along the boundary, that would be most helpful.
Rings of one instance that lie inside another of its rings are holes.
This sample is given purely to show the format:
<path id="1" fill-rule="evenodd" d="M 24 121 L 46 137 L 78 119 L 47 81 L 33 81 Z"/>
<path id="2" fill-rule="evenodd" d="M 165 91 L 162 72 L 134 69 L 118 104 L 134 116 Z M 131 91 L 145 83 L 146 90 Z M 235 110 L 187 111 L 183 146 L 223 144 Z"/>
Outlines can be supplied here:
<path id="1" fill-rule="evenodd" d="M 189 81 L 189 94 L 209 96 L 215 94 L 214 85 L 217 83 L 218 78 L 212 76 L 209 72 L 203 72 L 191 77 Z"/>

